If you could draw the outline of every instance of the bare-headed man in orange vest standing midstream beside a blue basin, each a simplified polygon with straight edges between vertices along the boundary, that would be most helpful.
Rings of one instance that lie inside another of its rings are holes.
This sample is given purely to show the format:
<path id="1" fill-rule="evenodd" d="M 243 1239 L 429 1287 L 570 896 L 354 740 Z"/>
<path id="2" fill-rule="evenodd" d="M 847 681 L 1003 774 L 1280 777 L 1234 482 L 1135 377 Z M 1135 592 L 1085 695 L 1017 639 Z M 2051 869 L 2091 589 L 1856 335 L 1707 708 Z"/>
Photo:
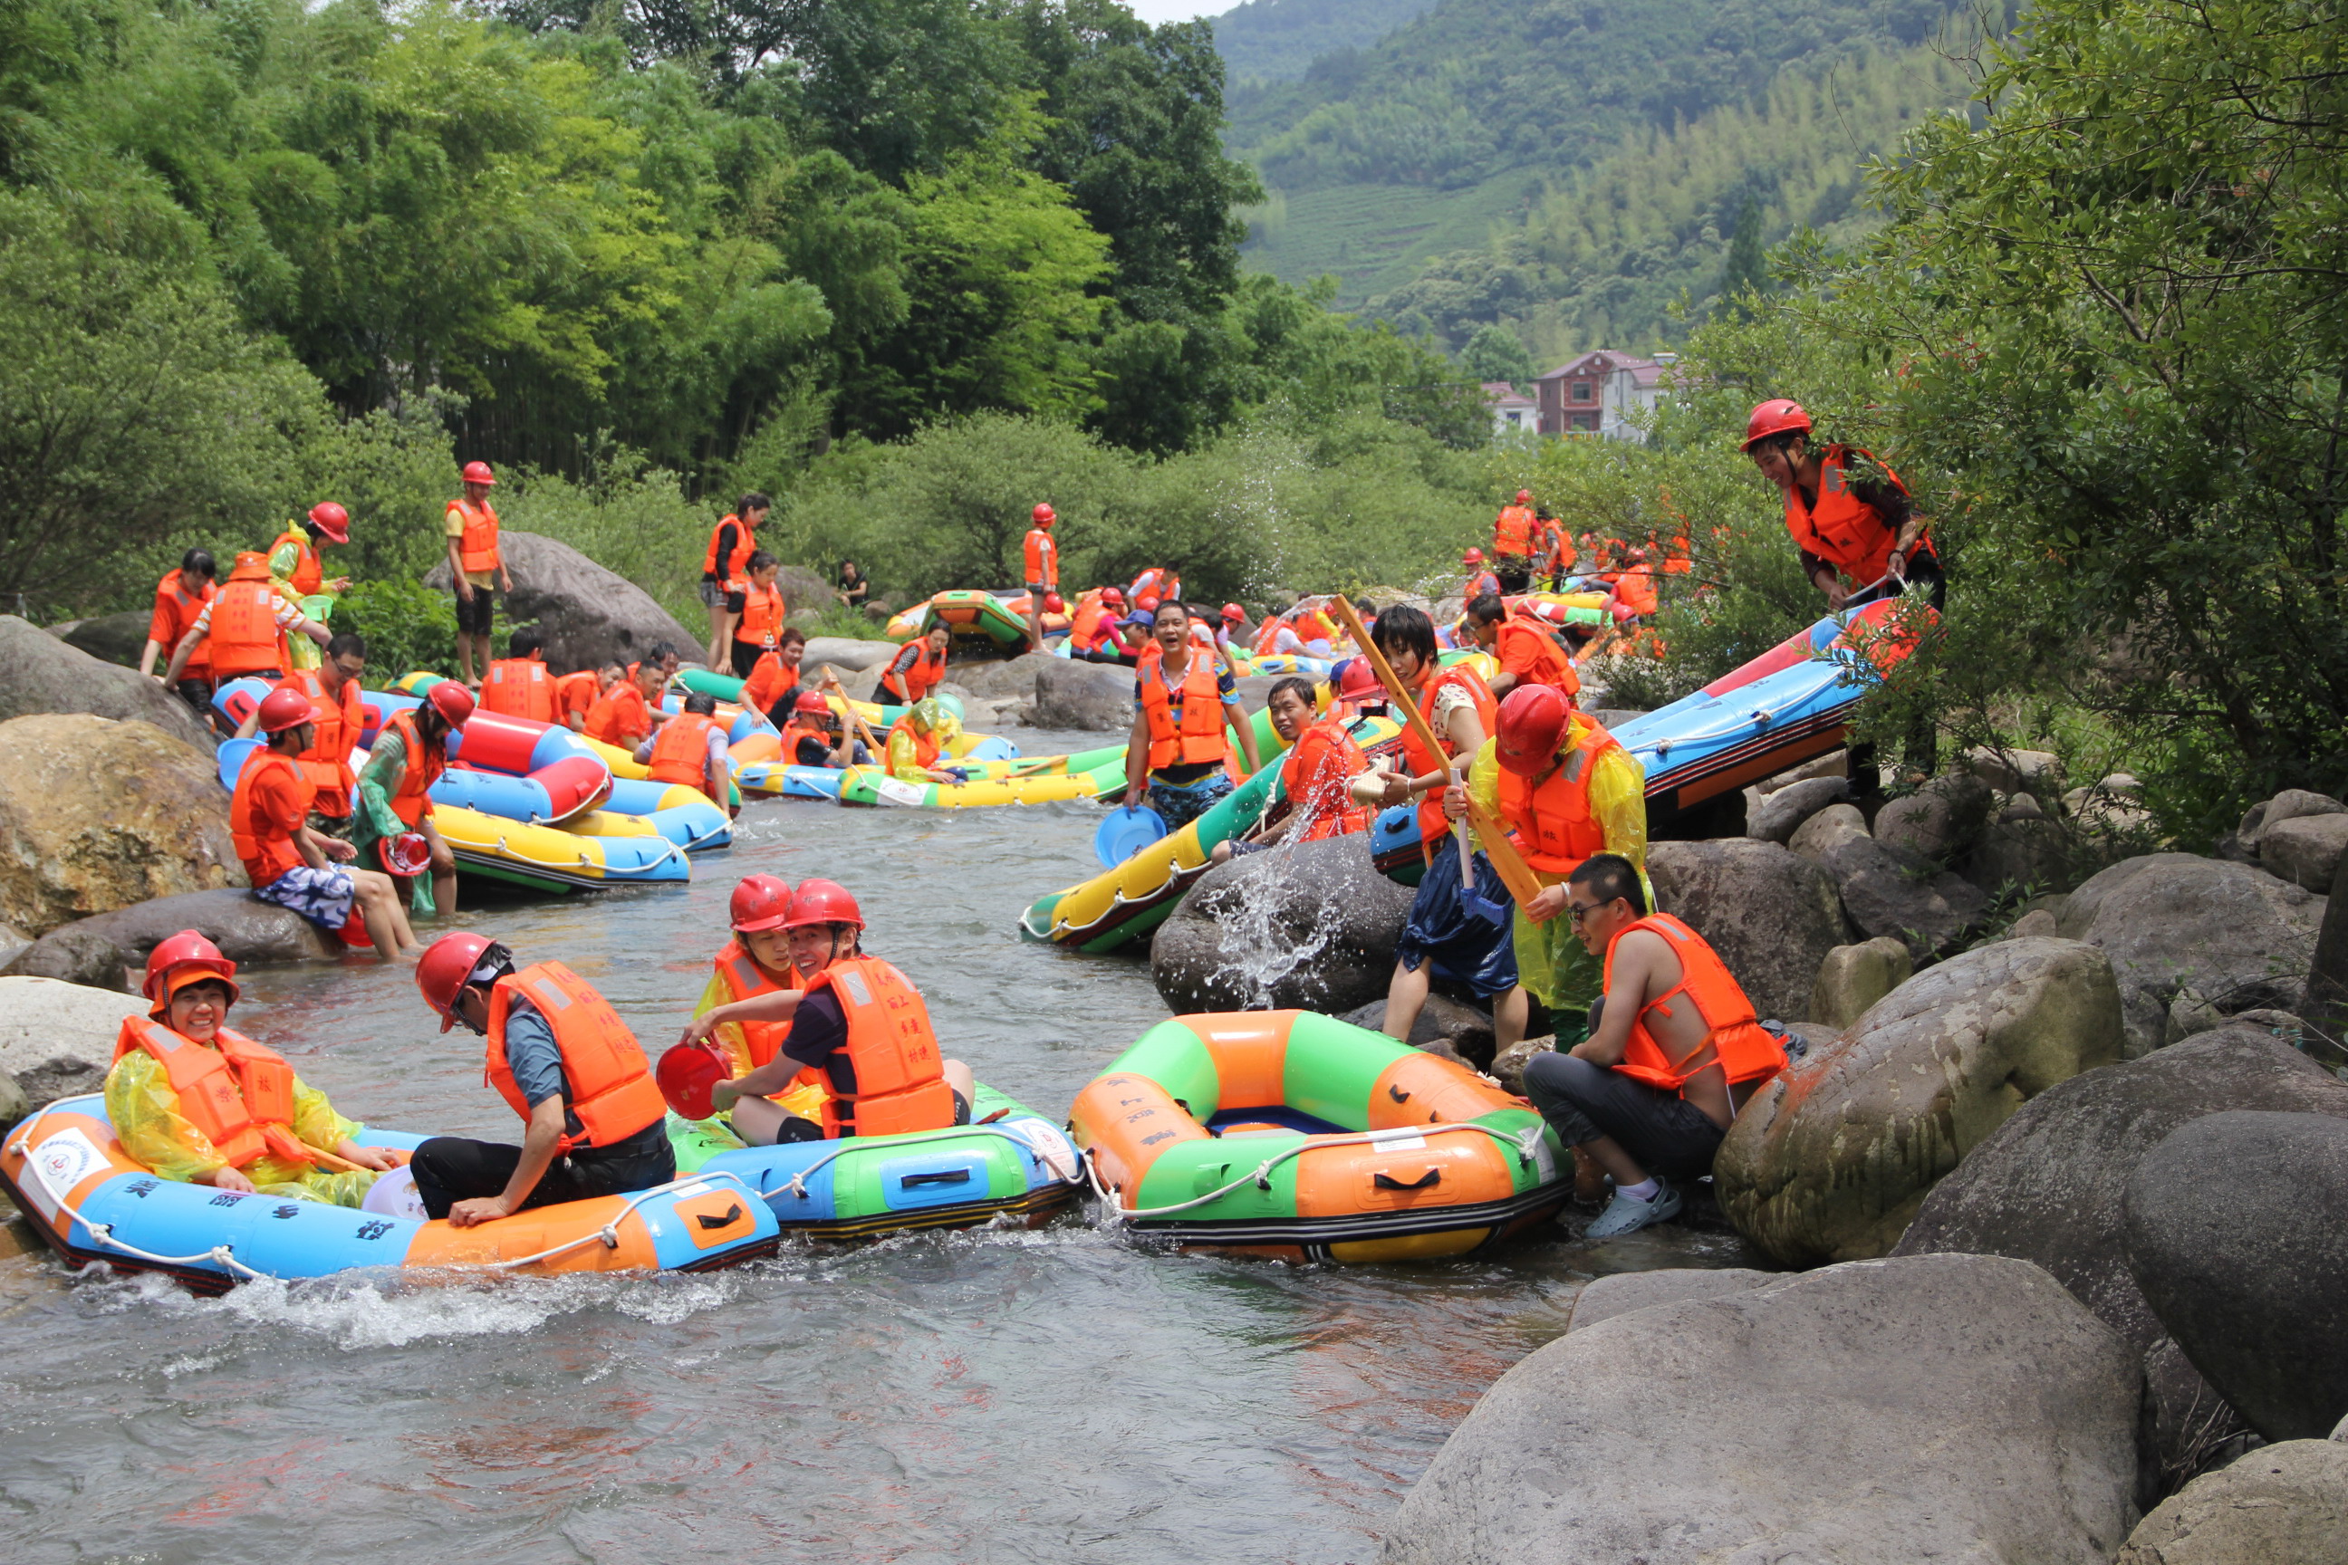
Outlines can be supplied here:
<path id="1" fill-rule="evenodd" d="M 1162 603 L 1151 626 L 1155 645 L 1134 666 L 1134 727 L 1125 741 L 1125 798 L 1181 831 L 1214 809 L 1233 781 L 1228 723 L 1256 772 L 1256 725 L 1240 704 L 1230 669 L 1190 641 L 1181 603 Z"/>

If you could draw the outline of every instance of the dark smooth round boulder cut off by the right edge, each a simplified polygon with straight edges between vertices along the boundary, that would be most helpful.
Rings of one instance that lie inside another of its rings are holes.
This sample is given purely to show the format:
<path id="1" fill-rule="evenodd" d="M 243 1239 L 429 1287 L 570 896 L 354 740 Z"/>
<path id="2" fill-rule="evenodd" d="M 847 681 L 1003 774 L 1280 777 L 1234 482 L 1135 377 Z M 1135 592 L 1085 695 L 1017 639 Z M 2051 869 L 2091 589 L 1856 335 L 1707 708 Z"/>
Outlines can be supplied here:
<path id="1" fill-rule="evenodd" d="M 2348 1415 L 2348 1117 L 2193 1119 L 2137 1161 L 2125 1225 L 2153 1314 L 2252 1429 Z"/>

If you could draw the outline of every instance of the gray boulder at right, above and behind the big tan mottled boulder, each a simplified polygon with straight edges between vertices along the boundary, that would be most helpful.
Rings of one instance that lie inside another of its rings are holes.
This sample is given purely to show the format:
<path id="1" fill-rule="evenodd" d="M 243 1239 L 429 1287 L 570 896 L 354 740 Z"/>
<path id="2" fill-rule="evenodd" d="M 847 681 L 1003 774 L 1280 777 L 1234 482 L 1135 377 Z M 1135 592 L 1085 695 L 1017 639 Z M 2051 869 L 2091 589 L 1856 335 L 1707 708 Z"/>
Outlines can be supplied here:
<path id="1" fill-rule="evenodd" d="M 2127 1058 L 2167 1042 L 2170 1004 L 2191 988 L 2219 1014 L 2299 1011 L 2325 899 L 2247 863 L 2144 854 L 2071 892 L 2059 924 L 2111 955 Z"/>

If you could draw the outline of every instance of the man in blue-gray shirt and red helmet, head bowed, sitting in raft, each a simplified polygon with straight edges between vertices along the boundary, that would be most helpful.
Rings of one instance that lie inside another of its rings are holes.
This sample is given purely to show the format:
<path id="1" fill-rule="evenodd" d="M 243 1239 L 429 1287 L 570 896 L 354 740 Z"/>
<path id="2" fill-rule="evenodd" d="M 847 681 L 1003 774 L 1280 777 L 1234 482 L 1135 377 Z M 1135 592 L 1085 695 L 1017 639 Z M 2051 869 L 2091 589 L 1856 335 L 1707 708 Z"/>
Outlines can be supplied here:
<path id="1" fill-rule="evenodd" d="M 486 1077 L 521 1117 L 521 1145 L 434 1136 L 409 1168 L 432 1218 L 456 1227 L 533 1206 L 650 1190 L 676 1178 L 669 1105 L 636 1035 L 561 962 L 514 971 L 514 953 L 444 934 L 416 964 L 441 1018 L 488 1039 Z"/>

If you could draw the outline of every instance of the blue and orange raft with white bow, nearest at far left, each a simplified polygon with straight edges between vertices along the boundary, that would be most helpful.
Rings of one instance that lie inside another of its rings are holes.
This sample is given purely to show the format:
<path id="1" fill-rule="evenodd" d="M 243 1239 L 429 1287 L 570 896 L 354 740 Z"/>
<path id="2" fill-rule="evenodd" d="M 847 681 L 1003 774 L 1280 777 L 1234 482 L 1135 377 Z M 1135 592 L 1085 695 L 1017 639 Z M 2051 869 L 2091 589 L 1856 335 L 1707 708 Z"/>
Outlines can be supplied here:
<path id="1" fill-rule="evenodd" d="M 362 1145 L 413 1150 L 423 1136 L 366 1131 Z M 61 1098 L 0 1143 L 0 1187 L 80 1269 L 162 1272 L 197 1293 L 364 1267 L 559 1272 L 716 1272 L 772 1255 L 768 1201 L 702 1171 L 657 1190 L 521 1211 L 479 1227 L 181 1185 L 134 1164 L 103 1093 Z"/>

